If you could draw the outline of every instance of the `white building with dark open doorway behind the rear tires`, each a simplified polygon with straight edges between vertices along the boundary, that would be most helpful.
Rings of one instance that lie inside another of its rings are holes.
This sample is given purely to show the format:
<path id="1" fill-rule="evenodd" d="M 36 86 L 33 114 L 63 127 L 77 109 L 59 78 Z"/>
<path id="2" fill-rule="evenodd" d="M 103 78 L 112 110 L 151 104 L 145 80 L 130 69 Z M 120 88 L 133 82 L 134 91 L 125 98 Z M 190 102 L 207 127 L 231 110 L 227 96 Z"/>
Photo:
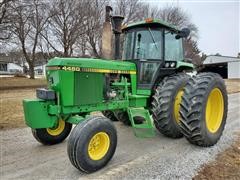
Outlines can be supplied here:
<path id="1" fill-rule="evenodd" d="M 240 58 L 210 55 L 203 66 L 203 71 L 219 73 L 225 79 L 240 78 Z"/>

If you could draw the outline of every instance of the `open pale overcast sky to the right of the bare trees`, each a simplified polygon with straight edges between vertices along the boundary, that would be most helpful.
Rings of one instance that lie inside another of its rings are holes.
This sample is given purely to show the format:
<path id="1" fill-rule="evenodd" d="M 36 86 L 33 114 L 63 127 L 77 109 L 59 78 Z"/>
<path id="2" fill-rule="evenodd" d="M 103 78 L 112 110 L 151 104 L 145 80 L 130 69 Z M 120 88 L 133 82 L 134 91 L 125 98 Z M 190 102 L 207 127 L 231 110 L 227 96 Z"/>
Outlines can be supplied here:
<path id="1" fill-rule="evenodd" d="M 143 0 L 144 1 L 144 0 Z M 240 52 L 240 0 L 145 0 L 163 7 L 182 7 L 199 29 L 198 45 L 209 54 L 237 56 Z"/>

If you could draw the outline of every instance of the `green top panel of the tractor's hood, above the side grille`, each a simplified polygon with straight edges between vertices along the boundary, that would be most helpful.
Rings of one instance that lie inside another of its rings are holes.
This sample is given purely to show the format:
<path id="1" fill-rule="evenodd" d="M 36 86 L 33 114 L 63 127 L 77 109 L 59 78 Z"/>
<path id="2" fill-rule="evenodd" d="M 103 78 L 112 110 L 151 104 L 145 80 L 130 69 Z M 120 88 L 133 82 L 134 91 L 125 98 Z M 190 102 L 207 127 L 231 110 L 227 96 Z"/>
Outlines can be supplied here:
<path id="1" fill-rule="evenodd" d="M 47 64 L 48 70 L 59 70 L 62 67 L 92 68 L 101 70 L 136 71 L 134 63 L 116 60 L 91 58 L 53 58 Z"/>

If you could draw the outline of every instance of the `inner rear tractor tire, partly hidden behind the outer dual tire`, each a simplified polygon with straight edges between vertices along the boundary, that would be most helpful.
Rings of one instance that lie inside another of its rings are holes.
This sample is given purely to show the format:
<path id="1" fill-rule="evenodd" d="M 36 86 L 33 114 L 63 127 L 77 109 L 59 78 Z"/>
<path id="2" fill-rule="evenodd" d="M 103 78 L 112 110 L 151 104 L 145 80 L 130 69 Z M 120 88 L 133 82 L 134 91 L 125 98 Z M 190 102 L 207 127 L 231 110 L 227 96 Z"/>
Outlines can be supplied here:
<path id="1" fill-rule="evenodd" d="M 189 76 L 179 73 L 165 77 L 153 95 L 151 112 L 156 128 L 165 136 L 180 138 L 179 108 L 183 88 Z"/>

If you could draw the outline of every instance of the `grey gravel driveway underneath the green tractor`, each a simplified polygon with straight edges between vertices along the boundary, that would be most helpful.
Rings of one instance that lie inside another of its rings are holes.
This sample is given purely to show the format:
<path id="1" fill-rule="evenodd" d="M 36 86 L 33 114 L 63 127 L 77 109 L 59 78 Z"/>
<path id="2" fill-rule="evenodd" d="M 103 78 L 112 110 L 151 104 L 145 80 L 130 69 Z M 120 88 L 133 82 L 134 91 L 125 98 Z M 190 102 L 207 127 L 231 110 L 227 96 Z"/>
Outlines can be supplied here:
<path id="1" fill-rule="evenodd" d="M 211 148 L 189 144 L 184 138 L 173 140 L 157 134 L 136 138 L 130 127 L 119 122 L 118 147 L 110 163 L 93 174 L 81 174 L 70 163 L 66 141 L 43 146 L 29 128 L 0 132 L 1 179 L 191 179 L 201 165 L 229 147 L 240 132 L 240 94 L 229 95 L 226 128 Z"/>

